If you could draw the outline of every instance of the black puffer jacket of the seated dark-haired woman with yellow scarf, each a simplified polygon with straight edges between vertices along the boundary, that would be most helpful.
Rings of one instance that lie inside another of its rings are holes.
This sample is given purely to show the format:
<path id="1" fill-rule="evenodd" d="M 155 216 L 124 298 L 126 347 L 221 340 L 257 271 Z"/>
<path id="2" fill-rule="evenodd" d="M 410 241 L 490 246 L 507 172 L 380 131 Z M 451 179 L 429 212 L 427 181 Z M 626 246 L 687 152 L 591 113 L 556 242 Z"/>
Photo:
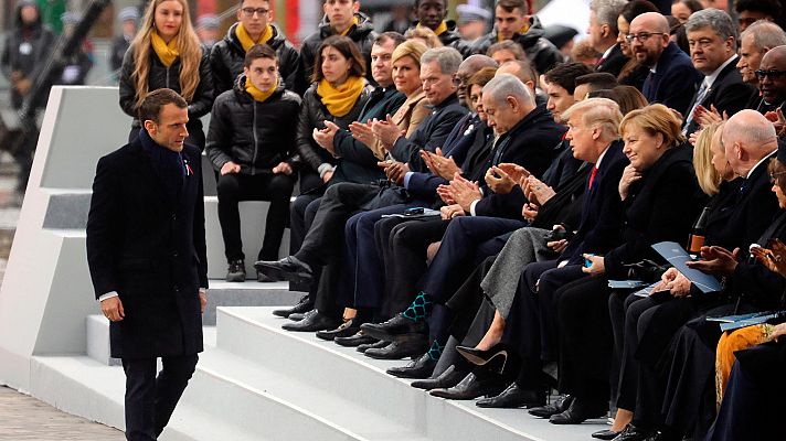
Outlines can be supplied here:
<path id="1" fill-rule="evenodd" d="M 352 106 L 352 110 L 342 117 L 334 117 L 330 115 L 328 108 L 322 104 L 322 99 L 317 95 L 317 84 L 312 84 L 311 87 L 306 90 L 302 96 L 302 106 L 300 107 L 300 118 L 297 123 L 297 135 L 296 135 L 296 146 L 297 151 L 300 153 L 300 159 L 308 166 L 315 171 L 319 170 L 319 165 L 323 163 L 336 164 L 337 160 L 325 149 L 319 147 L 317 141 L 314 140 L 311 133 L 314 129 L 323 129 L 326 120 L 332 121 L 336 126 L 346 129 L 349 127 L 350 122 L 357 121 L 360 116 L 360 111 L 365 106 L 365 101 L 371 97 L 371 93 L 374 87 L 367 85 L 363 92 L 360 93 L 360 97 Z"/>

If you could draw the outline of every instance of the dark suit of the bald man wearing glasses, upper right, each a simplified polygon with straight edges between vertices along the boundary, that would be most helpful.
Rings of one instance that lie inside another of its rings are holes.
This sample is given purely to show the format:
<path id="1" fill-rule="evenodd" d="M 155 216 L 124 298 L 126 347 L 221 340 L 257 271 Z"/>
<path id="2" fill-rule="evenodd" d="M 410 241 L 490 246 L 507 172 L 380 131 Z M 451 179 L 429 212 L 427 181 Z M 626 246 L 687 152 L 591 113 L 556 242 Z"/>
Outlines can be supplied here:
<path id="1" fill-rule="evenodd" d="M 658 58 L 655 73 L 650 72 L 645 79 L 641 92 L 650 104 L 660 103 L 686 115 L 701 79 L 688 54 L 669 43 Z"/>

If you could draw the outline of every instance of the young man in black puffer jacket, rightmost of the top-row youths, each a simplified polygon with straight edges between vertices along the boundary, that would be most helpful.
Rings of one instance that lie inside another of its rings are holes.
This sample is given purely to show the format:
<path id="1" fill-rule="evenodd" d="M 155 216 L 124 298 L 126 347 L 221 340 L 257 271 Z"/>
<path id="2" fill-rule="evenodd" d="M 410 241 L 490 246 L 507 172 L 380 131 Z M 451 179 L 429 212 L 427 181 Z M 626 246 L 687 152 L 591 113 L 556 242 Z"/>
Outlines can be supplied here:
<path id="1" fill-rule="evenodd" d="M 471 53 L 486 54 L 493 43 L 512 40 L 521 45 L 538 72 L 562 63 L 560 50 L 543 37 L 543 28 L 537 17 L 529 15 L 524 0 L 497 0 L 495 17 L 495 29 L 472 43 Z"/>

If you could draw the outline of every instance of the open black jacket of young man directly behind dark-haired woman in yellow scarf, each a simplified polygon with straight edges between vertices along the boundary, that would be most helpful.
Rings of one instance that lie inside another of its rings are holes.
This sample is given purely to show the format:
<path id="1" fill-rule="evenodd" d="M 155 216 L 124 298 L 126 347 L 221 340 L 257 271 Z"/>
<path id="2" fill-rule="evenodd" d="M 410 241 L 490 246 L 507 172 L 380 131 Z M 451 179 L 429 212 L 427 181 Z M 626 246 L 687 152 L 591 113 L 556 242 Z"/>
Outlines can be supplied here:
<path id="1" fill-rule="evenodd" d="M 374 44 L 376 32 L 374 32 L 374 25 L 365 14 L 358 12 L 354 15 L 358 18 L 358 24 L 350 29 L 347 36 L 358 45 L 360 53 L 363 54 L 363 58 L 365 60 L 365 76 L 369 80 L 373 82 L 373 78 L 371 78 L 371 45 Z M 325 39 L 331 35 L 333 35 L 333 30 L 330 28 L 328 15 L 325 15 L 322 22 L 319 24 L 319 30 L 304 40 L 300 46 L 299 79 L 295 86 L 295 92 L 298 94 L 302 94 L 311 84 L 314 61 L 317 58 L 319 45 L 322 44 Z"/>

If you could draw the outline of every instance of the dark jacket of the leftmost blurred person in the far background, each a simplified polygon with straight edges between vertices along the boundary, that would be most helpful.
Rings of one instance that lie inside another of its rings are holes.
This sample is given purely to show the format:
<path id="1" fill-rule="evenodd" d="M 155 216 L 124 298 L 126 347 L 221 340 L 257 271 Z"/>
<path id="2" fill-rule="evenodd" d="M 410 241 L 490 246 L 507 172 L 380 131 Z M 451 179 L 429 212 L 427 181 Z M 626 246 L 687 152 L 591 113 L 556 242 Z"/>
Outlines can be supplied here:
<path id="1" fill-rule="evenodd" d="M 35 77 L 46 64 L 44 61 L 50 57 L 50 53 L 54 47 L 55 36 L 52 31 L 41 23 L 39 20 L 30 26 L 22 24 L 22 4 L 17 7 L 14 15 L 14 28 L 6 34 L 6 41 L 0 55 L 0 68 L 3 75 L 11 78 L 13 72 L 21 73 L 25 78 L 35 83 Z M 49 93 L 42 94 L 41 107 L 46 105 Z M 22 106 L 23 97 L 19 95 L 17 89 L 11 89 L 11 104 L 18 109 Z"/>

